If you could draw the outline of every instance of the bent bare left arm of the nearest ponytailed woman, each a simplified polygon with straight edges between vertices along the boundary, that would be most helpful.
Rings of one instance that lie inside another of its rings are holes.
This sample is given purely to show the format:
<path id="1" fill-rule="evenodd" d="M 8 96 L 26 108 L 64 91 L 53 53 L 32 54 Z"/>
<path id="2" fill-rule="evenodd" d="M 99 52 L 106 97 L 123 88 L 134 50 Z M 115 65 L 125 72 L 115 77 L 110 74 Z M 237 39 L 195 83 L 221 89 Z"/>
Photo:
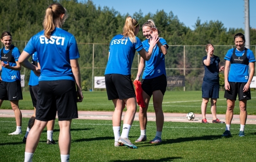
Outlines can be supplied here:
<path id="1" fill-rule="evenodd" d="M 21 55 L 20 55 L 20 57 L 19 57 L 18 62 L 19 62 L 22 66 L 24 66 L 25 68 L 28 68 L 28 69 L 30 69 L 30 70 L 33 70 L 33 72 L 35 73 L 35 75 L 39 76 L 40 73 L 41 73 L 40 69 L 39 69 L 37 66 L 31 64 L 31 63 L 28 61 L 28 58 L 29 58 L 29 57 L 30 57 L 30 54 L 29 54 L 29 53 L 27 53 L 26 51 L 22 51 L 22 53 L 21 53 Z"/>

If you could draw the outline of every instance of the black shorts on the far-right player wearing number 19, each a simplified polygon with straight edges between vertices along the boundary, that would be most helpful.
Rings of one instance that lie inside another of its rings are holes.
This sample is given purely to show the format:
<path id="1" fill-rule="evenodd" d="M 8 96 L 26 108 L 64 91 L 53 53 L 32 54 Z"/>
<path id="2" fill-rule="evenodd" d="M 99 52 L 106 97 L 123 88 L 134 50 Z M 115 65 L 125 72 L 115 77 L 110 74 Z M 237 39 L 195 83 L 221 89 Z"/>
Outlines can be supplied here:
<path id="1" fill-rule="evenodd" d="M 243 92 L 243 87 L 246 83 L 243 82 L 228 82 L 230 85 L 230 91 L 225 90 L 224 98 L 230 100 L 236 100 L 236 96 L 238 94 L 238 100 L 250 100 L 251 99 L 251 92 L 250 88 L 249 91 Z"/>

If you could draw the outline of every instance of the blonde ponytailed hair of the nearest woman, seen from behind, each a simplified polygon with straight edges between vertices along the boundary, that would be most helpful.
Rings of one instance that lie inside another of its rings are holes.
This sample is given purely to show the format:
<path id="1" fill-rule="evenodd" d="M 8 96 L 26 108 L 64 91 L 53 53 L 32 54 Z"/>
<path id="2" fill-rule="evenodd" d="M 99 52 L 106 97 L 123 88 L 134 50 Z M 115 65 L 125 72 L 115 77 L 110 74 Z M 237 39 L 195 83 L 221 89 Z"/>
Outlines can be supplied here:
<path id="1" fill-rule="evenodd" d="M 50 38 L 52 31 L 55 29 L 55 26 L 62 26 L 67 19 L 65 15 L 66 9 L 59 3 L 53 3 L 48 6 L 46 9 L 46 15 L 43 20 L 43 29 L 44 36 Z M 61 19 L 60 16 L 64 14 L 64 17 Z"/>

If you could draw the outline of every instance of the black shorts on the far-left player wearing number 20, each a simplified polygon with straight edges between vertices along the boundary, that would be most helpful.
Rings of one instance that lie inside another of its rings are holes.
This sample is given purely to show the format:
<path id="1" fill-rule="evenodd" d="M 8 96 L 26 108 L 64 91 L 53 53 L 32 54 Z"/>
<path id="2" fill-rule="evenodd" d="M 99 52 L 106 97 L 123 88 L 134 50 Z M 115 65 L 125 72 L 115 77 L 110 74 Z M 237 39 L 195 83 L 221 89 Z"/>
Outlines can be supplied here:
<path id="1" fill-rule="evenodd" d="M 0 100 L 22 100 L 22 88 L 20 80 L 13 82 L 1 81 Z"/>

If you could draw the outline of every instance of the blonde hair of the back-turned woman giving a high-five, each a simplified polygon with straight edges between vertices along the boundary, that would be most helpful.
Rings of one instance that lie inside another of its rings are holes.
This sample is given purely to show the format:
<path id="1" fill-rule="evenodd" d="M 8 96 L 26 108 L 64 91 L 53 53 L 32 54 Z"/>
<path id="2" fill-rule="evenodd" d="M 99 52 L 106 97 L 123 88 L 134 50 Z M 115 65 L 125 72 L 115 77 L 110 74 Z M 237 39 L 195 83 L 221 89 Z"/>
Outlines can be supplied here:
<path id="1" fill-rule="evenodd" d="M 132 17 L 130 16 L 126 17 L 123 33 L 122 33 L 122 35 L 124 36 L 123 38 L 129 37 L 132 43 L 136 43 L 137 40 L 136 40 L 136 36 L 134 35 L 135 28 L 139 28 L 138 21 L 135 19 L 132 19 Z"/>

